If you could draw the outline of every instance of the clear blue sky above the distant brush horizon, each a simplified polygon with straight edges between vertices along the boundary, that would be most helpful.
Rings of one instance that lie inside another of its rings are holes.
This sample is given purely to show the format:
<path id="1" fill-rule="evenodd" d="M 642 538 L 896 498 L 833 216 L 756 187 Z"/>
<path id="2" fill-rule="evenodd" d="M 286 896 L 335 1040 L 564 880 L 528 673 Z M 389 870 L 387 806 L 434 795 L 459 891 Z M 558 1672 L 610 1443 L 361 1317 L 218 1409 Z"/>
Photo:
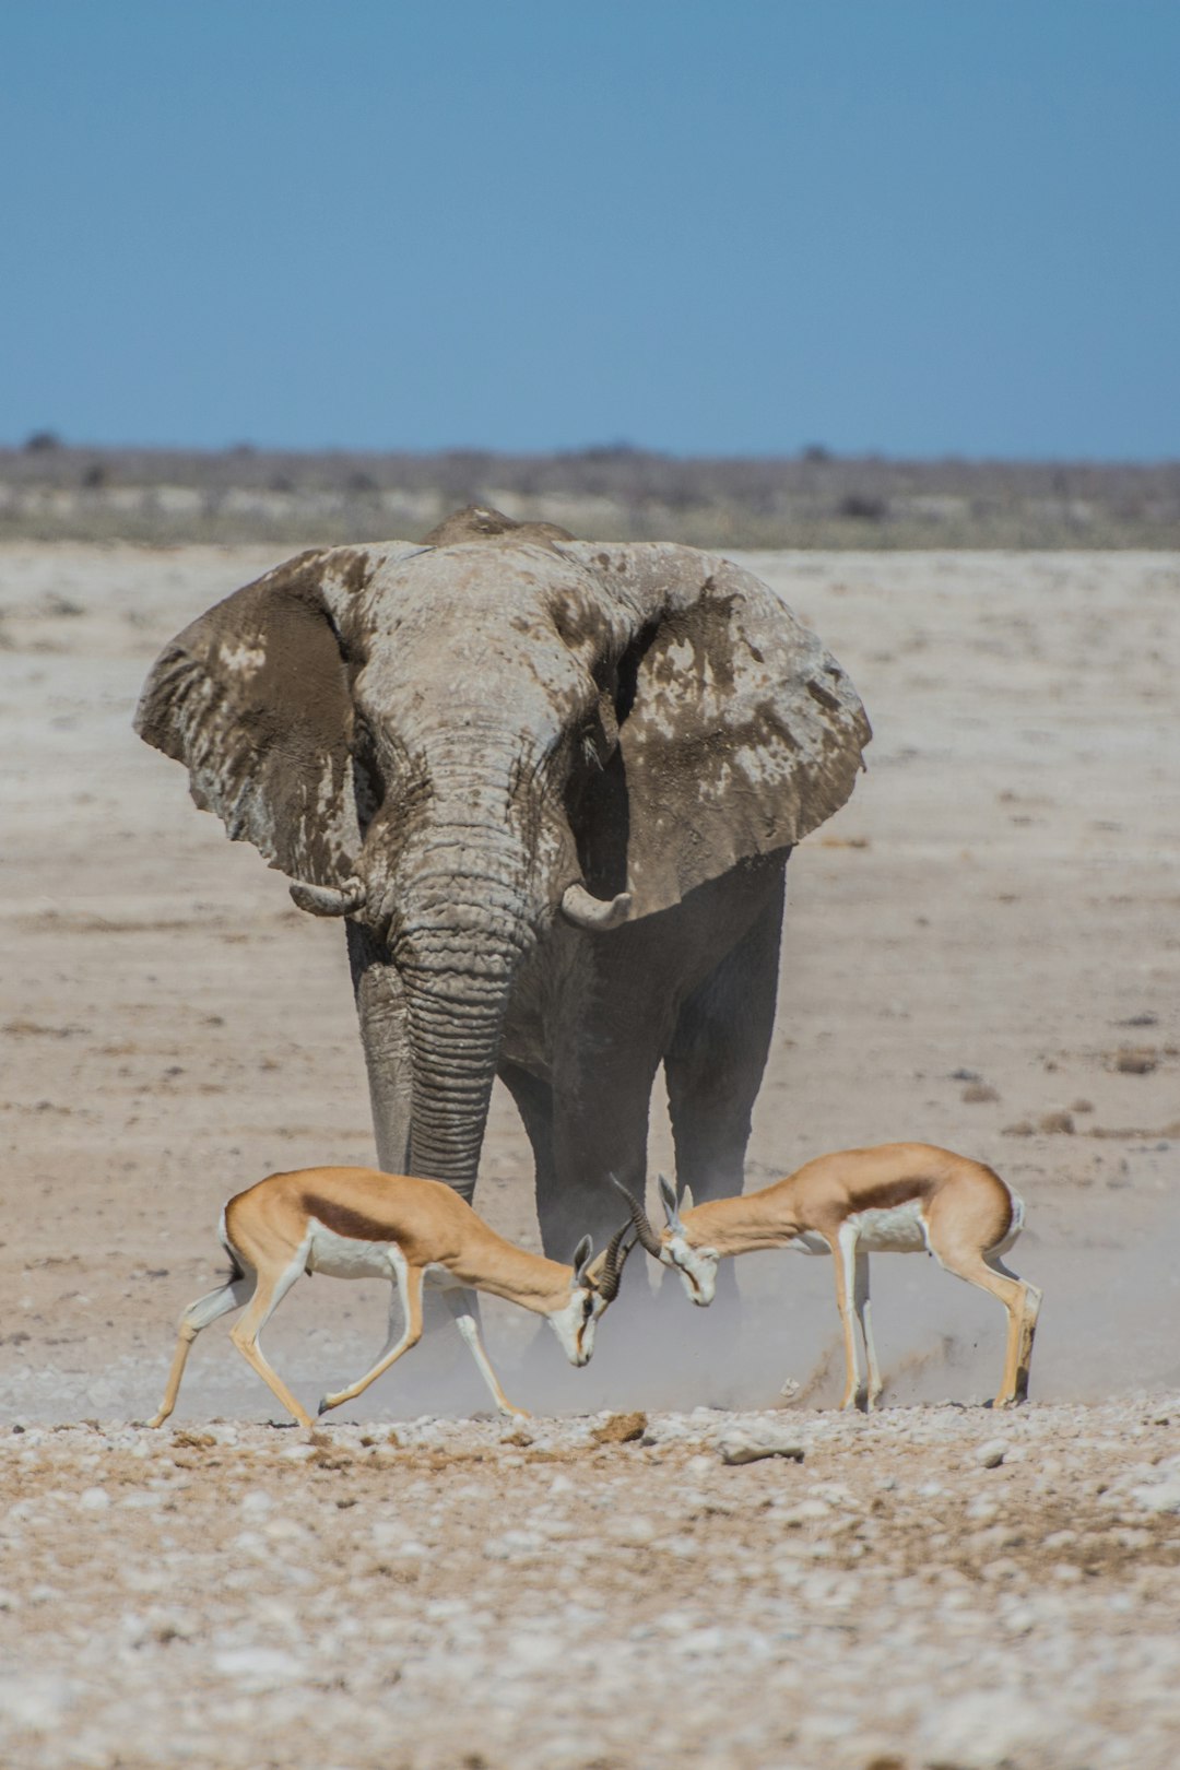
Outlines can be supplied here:
<path id="1" fill-rule="evenodd" d="M 0 441 L 1180 455 L 1175 0 L 7 0 Z"/>

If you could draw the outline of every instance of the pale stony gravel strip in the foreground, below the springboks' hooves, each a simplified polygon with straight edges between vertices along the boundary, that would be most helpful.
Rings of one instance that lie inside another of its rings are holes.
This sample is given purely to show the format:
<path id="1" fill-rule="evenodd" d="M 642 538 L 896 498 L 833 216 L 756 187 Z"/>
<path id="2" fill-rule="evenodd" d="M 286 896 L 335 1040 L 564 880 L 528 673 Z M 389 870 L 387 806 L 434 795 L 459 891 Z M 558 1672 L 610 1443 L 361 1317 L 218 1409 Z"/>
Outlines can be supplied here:
<path id="1" fill-rule="evenodd" d="M 0 1763 L 1171 1770 L 1176 1421 L 5 1430 Z"/>

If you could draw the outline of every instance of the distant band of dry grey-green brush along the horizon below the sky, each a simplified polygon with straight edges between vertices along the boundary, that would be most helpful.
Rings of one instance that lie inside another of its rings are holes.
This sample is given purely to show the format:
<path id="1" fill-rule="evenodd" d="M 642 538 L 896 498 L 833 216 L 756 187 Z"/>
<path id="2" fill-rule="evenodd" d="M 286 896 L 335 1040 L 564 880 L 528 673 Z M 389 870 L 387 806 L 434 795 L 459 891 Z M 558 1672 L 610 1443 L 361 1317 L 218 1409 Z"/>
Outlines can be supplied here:
<path id="1" fill-rule="evenodd" d="M 1180 464 L 676 458 L 623 444 L 285 453 L 0 450 L 0 540 L 324 542 L 425 535 L 492 503 L 586 540 L 697 547 L 1176 547 Z"/>

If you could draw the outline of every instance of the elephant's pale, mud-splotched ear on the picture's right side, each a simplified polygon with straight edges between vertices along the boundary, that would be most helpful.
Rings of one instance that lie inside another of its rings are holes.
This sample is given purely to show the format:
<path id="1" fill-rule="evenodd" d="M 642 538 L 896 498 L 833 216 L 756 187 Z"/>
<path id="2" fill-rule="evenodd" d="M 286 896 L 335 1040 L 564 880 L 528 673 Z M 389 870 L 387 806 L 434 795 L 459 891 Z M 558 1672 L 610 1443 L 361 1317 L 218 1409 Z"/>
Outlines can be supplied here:
<path id="1" fill-rule="evenodd" d="M 635 623 L 617 690 L 632 915 L 679 903 L 839 811 L 869 720 L 835 658 L 766 584 L 690 547 L 563 550 Z M 617 825 L 619 798 L 601 804 Z M 609 846 L 609 832 L 587 832 L 587 848 Z"/>

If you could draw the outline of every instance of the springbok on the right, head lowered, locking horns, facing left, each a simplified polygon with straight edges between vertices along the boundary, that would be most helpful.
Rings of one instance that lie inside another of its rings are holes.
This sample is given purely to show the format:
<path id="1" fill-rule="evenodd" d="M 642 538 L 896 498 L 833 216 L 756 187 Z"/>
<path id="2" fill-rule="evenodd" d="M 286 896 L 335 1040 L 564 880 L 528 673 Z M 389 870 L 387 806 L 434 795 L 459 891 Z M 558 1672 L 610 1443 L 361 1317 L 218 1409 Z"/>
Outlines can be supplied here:
<path id="1" fill-rule="evenodd" d="M 865 1407 L 881 1393 L 881 1370 L 869 1313 L 870 1253 L 932 1253 L 955 1278 L 998 1297 L 1008 1312 L 1003 1382 L 992 1405 L 1028 1400 L 1028 1366 L 1040 1290 L 1003 1266 L 1024 1223 L 1024 1202 L 982 1161 L 932 1143 L 881 1143 L 844 1149 L 807 1161 L 784 1181 L 739 1198 L 711 1198 L 679 1211 L 676 1188 L 660 1175 L 667 1228 L 660 1234 L 644 1207 L 624 1193 L 637 1239 L 662 1266 L 679 1271 L 693 1303 L 706 1306 L 716 1289 L 716 1262 L 757 1248 L 796 1248 L 835 1257 L 835 1299 L 844 1324 L 844 1397 Z M 862 1384 L 853 1310 L 869 1361 Z"/>

